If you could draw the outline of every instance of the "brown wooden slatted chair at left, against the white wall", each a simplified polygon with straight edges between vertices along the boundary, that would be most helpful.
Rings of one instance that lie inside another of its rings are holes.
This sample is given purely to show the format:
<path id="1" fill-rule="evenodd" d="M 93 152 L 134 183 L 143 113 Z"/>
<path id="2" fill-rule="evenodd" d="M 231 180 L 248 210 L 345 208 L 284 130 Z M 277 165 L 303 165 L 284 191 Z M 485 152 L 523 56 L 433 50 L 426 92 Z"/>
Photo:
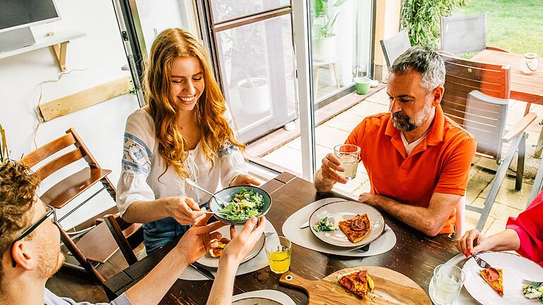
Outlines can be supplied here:
<path id="1" fill-rule="evenodd" d="M 74 149 L 69 150 L 68 152 L 61 152 L 59 157 L 53 156 L 57 154 L 57 152 L 70 147 L 74 147 Z M 54 159 L 47 161 L 49 157 L 54 157 Z M 76 208 L 69 210 L 58 220 L 58 222 L 62 222 L 67 216 L 74 213 L 75 210 L 90 201 L 91 198 L 104 189 L 110 194 L 115 202 L 115 186 L 113 186 L 110 179 L 107 177 L 107 174 L 110 174 L 111 171 L 109 169 L 103 169 L 98 165 L 98 162 L 93 155 L 91 155 L 91 152 L 83 143 L 83 140 L 79 138 L 74 128 L 70 128 L 66 131 L 66 135 L 37 148 L 37 150 L 30 152 L 21 159 L 23 164 L 31 168 L 41 164 L 42 161 L 46 162 L 45 165 L 40 165 L 34 170 L 42 181 L 55 173 L 57 173 L 55 176 L 59 176 L 62 174 L 60 169 L 72 165 L 81 159 L 86 161 L 88 167 L 84 167 L 78 172 L 70 174 L 68 177 L 58 181 L 47 189 L 45 193 L 42 193 L 40 199 L 47 205 L 62 209 L 95 184 L 100 183 L 102 184 L 102 187 L 93 193 L 93 195 L 79 203 Z M 111 236 L 107 229 L 107 225 L 105 225 L 105 223 L 99 223 L 96 227 L 93 227 L 93 229 L 83 235 L 77 243 L 69 237 L 69 234 L 62 229 L 61 225 L 57 224 L 57 227 L 59 227 L 61 232 L 62 242 L 79 263 L 79 265 L 66 264 L 64 267 L 68 267 L 71 270 L 82 271 L 86 273 L 86 275 L 90 275 L 93 280 L 104 282 L 104 278 L 97 270 L 95 270 L 95 267 L 91 262 L 104 263 L 113 253 L 115 253 L 115 251 L 117 251 L 115 239 Z"/>

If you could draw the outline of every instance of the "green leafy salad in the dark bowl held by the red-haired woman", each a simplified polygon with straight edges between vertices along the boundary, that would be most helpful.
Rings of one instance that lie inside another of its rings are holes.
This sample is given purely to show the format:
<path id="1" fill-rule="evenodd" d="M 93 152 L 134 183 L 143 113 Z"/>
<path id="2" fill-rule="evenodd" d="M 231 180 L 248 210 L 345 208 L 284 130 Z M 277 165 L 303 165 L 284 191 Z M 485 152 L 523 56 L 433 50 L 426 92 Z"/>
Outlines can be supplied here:
<path id="1" fill-rule="evenodd" d="M 240 193 L 235 194 L 233 201 L 218 212 L 228 214 L 225 217 L 227 220 L 243 221 L 251 216 L 257 217 L 262 214 L 263 209 L 264 197 L 261 194 L 241 189 Z"/>

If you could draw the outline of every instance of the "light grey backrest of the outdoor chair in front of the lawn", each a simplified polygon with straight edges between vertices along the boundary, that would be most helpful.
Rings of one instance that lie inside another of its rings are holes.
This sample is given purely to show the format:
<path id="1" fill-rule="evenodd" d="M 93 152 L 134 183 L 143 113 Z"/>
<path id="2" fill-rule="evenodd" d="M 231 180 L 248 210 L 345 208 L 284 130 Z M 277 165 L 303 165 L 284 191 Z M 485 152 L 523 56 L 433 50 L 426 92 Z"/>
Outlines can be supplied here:
<path id="1" fill-rule="evenodd" d="M 453 54 L 486 48 L 486 14 L 441 17 L 441 50 Z"/>

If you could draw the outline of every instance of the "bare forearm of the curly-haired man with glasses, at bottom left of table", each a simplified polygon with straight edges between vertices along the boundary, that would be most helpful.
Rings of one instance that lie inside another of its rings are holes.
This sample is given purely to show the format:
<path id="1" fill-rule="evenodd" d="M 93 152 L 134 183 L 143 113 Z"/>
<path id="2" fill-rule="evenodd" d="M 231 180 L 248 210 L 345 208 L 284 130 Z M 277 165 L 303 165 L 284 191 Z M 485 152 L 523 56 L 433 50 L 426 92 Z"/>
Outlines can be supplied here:
<path id="1" fill-rule="evenodd" d="M 187 265 L 174 248 L 148 275 L 127 290 L 127 298 L 134 305 L 158 304 Z"/>

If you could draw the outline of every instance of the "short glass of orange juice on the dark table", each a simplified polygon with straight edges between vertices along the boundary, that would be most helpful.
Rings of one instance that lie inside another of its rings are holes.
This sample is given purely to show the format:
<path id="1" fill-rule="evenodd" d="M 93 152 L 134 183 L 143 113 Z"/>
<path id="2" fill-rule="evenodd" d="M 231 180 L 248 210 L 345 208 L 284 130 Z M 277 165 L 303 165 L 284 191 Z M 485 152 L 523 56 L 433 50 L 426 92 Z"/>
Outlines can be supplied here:
<path id="1" fill-rule="evenodd" d="M 291 267 L 292 243 L 286 237 L 271 236 L 264 244 L 269 268 L 274 273 L 286 273 Z"/>

